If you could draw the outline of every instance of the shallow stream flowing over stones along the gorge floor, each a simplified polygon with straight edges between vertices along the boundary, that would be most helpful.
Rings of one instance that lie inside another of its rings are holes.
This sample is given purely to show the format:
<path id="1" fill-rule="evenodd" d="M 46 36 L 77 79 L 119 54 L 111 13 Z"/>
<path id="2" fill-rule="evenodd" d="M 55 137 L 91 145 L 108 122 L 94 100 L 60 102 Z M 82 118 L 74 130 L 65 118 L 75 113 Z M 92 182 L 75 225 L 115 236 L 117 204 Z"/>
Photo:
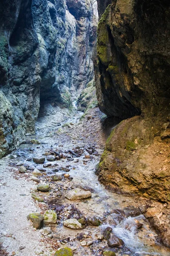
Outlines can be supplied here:
<path id="1" fill-rule="evenodd" d="M 99 111 L 96 110 L 96 113 L 99 113 Z M 170 256 L 170 250 L 159 244 L 158 234 L 152 230 L 144 215 L 139 213 L 127 217 L 121 212 L 123 209 L 127 211 L 133 207 L 136 209 L 140 200 L 144 199 L 136 196 L 118 195 L 99 183 L 98 177 L 95 175 L 95 167 L 99 163 L 104 143 L 99 144 L 97 140 L 94 140 L 94 130 L 89 131 L 89 125 L 86 128 L 87 121 L 79 122 L 81 116 L 81 112 L 75 112 L 74 116 L 62 118 L 60 123 L 54 122 L 55 116 L 49 117 L 48 120 L 39 119 L 36 134 L 27 137 L 27 141 L 36 139 L 41 144 L 22 144 L 12 153 L 17 158 L 11 160 L 11 166 L 24 164 L 30 173 L 34 168 L 42 169 L 42 164 L 35 164 L 32 157 L 42 156 L 45 151 L 55 150 L 68 156 L 65 159 L 51 162 L 51 166 L 44 168 L 46 175 L 40 177 L 42 182 L 48 182 L 55 186 L 55 191 L 45 194 L 48 207 L 52 209 L 61 208 L 57 212 L 60 218 L 58 225 L 52 227 L 56 242 L 60 243 L 61 246 L 66 245 L 73 248 L 74 254 L 78 256 L 98 256 L 102 255 L 102 251 L 105 250 L 116 252 L 116 256 Z M 98 120 L 99 117 L 100 114 L 99 116 L 96 114 L 94 121 L 91 119 L 91 124 L 96 122 L 95 120 Z M 99 124 L 99 121 L 96 122 L 96 125 Z M 92 139 L 90 138 L 91 132 L 94 133 Z M 87 134 L 88 136 L 86 136 Z M 102 138 L 101 134 L 102 127 L 97 136 Z M 75 155 L 71 154 L 69 150 L 74 151 Z M 90 158 L 85 158 L 85 155 L 90 155 Z M 47 163 L 47 160 L 45 160 L 45 163 Z M 65 168 L 67 168 L 67 172 Z M 64 178 L 54 184 L 51 181 L 51 176 L 56 172 L 59 175 L 68 173 L 72 179 Z M 92 198 L 81 201 L 66 199 L 65 194 L 68 190 L 77 186 L 90 187 L 93 191 Z M 119 210 L 115 211 L 115 209 Z M 95 216 L 101 220 L 102 224 L 99 227 L 87 226 L 83 230 L 71 230 L 62 224 L 63 220 L 67 219 L 69 215 L 74 218 Z M 138 229 L 135 223 L 140 223 L 142 227 Z M 125 242 L 124 246 L 109 248 L 107 240 L 99 239 L 99 235 L 107 227 L 112 228 L 111 235 L 115 234 Z M 81 238 L 81 236 L 84 237 Z M 93 244 L 82 246 L 80 244 L 82 239 L 87 242 L 93 241 Z"/>

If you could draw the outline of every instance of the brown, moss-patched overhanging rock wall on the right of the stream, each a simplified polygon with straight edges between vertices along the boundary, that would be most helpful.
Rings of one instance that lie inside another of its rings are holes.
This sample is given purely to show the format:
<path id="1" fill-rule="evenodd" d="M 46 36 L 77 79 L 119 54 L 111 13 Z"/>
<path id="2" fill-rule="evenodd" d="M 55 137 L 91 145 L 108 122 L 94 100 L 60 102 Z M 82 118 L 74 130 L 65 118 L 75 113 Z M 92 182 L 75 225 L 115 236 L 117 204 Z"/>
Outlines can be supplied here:
<path id="1" fill-rule="evenodd" d="M 123 120 L 108 138 L 99 180 L 170 203 L 170 2 L 97 2 L 97 99 Z"/>

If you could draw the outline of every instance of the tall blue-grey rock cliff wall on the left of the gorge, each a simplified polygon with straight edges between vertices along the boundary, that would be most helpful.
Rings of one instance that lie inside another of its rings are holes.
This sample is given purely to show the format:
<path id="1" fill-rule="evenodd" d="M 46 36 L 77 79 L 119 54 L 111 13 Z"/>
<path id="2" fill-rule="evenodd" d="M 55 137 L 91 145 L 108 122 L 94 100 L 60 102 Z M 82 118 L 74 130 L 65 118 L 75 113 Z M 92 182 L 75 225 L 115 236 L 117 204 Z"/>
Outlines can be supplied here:
<path id="1" fill-rule="evenodd" d="M 0 154 L 34 133 L 40 105 L 67 108 L 94 76 L 91 0 L 0 2 Z"/>

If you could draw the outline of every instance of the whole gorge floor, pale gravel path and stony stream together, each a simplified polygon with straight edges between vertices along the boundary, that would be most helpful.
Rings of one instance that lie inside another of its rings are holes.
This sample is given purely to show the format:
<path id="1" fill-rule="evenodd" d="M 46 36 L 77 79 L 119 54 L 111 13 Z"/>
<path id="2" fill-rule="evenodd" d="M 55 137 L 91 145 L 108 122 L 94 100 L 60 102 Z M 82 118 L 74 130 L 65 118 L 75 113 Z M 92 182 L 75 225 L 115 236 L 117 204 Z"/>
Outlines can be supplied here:
<path id="1" fill-rule="evenodd" d="M 60 112 L 57 122 L 51 116 L 48 121 L 38 119 L 36 134 L 27 136 L 27 143 L 0 160 L 1 241 L 9 255 L 49 256 L 59 247 L 69 247 L 78 256 L 97 256 L 105 251 L 115 252 L 116 256 L 170 255 L 142 215 L 142 207 L 149 200 L 115 194 L 99 183 L 95 168 L 106 136 L 103 114 L 98 108 L 90 113 L 81 118 L 82 112 L 75 111 L 61 123 L 57 123 Z M 55 160 L 55 152 L 60 160 Z M 35 163 L 41 160 L 44 163 Z M 49 185 L 50 190 L 37 191 L 41 184 Z M 75 188 L 90 191 L 91 198 L 65 198 Z M 57 212 L 57 224 L 48 215 L 50 224 L 44 218 L 43 229 L 35 231 L 27 215 L 45 214 L 49 209 Z M 67 219 L 78 219 L 82 223 L 77 221 L 80 230 L 63 226 Z M 107 242 L 110 234 L 125 244 L 112 249 Z"/>

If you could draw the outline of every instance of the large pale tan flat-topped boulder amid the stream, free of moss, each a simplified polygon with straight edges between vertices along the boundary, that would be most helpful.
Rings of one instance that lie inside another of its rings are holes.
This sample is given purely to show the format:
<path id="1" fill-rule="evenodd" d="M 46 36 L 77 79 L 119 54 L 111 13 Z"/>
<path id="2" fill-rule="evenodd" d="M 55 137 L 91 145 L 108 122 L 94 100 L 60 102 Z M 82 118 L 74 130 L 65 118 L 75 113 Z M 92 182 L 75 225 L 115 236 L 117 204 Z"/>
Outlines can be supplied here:
<path id="1" fill-rule="evenodd" d="M 84 191 L 82 189 L 72 189 L 65 195 L 66 198 L 69 200 L 79 200 L 84 198 L 91 198 L 91 192 L 90 191 Z"/>

